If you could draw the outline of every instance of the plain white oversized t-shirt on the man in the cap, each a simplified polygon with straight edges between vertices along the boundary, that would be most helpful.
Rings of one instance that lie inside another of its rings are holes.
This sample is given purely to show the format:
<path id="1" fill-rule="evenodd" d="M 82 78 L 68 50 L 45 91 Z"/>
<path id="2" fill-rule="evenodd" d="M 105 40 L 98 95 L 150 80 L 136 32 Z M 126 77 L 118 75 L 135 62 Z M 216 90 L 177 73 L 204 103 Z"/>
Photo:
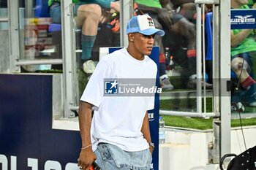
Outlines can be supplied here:
<path id="1" fill-rule="evenodd" d="M 105 79 L 152 79 L 155 85 L 156 77 L 157 64 L 151 58 L 145 56 L 143 61 L 136 60 L 125 48 L 99 61 L 80 98 L 94 105 L 91 122 L 94 151 L 99 142 L 130 152 L 148 148 L 140 130 L 146 111 L 154 109 L 154 93 L 151 96 L 105 96 Z"/>

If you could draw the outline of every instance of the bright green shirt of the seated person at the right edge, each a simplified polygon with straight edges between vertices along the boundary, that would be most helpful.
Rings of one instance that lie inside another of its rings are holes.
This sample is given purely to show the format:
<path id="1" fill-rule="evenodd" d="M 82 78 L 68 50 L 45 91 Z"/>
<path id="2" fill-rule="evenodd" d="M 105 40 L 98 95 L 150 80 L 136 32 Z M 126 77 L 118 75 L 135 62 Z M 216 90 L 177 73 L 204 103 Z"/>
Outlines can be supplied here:
<path id="1" fill-rule="evenodd" d="M 244 5 L 244 6 L 241 7 L 241 9 L 249 9 L 249 7 L 247 5 Z M 242 31 L 242 30 L 241 29 L 234 29 L 233 34 L 236 35 L 240 31 Z M 247 53 L 247 52 L 250 52 L 250 51 L 256 51 L 256 42 L 255 42 L 253 31 L 237 47 L 231 47 L 231 56 L 238 55 L 238 54 L 241 54 L 241 53 Z"/>

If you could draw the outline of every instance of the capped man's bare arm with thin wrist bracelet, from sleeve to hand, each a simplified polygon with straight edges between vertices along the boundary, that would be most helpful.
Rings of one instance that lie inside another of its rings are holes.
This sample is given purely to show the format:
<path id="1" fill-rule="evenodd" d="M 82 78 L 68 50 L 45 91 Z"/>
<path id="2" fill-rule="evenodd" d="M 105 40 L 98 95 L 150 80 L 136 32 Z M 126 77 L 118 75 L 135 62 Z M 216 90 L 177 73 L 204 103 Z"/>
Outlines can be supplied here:
<path id="1" fill-rule="evenodd" d="M 83 169 L 89 169 L 91 164 L 97 159 L 91 147 L 91 109 L 91 104 L 80 101 L 79 128 L 82 146 L 78 158 L 78 166 L 82 166 Z"/>

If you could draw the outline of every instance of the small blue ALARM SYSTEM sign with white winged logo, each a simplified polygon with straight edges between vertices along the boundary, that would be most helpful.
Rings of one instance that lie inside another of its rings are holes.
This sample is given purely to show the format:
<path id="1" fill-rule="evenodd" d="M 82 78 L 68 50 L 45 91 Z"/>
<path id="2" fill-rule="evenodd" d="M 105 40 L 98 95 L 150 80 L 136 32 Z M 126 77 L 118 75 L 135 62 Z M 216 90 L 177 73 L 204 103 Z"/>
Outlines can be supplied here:
<path id="1" fill-rule="evenodd" d="M 231 9 L 231 29 L 256 28 L 256 9 Z"/>

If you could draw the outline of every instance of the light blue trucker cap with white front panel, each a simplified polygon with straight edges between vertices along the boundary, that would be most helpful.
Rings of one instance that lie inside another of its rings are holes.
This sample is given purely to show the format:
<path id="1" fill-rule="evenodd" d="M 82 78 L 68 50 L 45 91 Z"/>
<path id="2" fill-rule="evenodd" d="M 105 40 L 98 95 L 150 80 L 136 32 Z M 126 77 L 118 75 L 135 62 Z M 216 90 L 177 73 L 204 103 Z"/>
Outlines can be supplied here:
<path id="1" fill-rule="evenodd" d="M 164 36 L 165 31 L 162 31 L 161 29 L 157 29 L 154 26 L 153 19 L 145 14 L 145 15 L 138 15 L 129 20 L 129 23 L 127 25 L 127 34 L 129 33 L 135 33 L 139 32 L 140 34 L 144 35 L 159 35 Z"/>

